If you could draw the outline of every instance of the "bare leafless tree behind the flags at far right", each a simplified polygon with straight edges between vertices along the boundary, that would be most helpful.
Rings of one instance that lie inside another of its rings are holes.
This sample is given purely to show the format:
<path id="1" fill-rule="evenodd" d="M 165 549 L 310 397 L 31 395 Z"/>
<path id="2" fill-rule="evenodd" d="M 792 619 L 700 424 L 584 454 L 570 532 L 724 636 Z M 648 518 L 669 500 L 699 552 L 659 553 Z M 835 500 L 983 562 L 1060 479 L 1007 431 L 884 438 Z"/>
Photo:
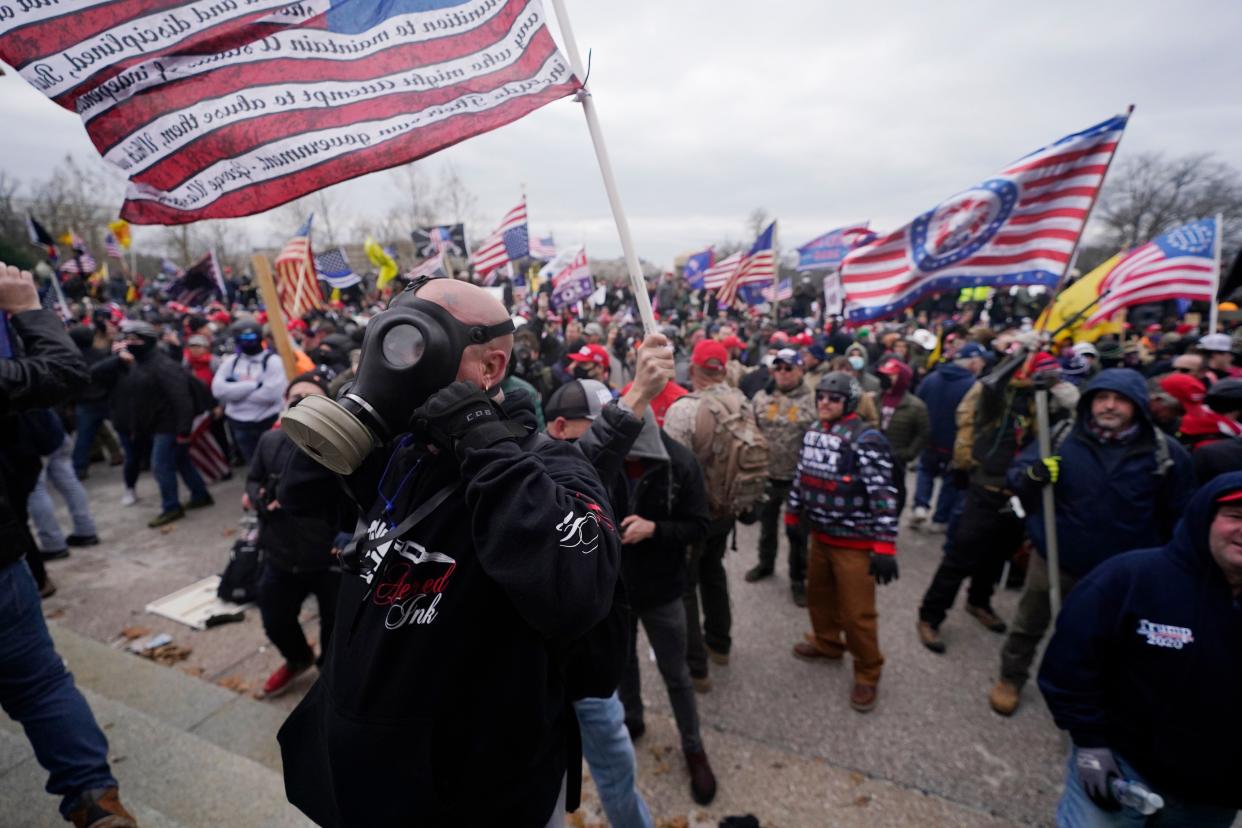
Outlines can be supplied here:
<path id="1" fill-rule="evenodd" d="M 1242 173 L 1208 154 L 1144 153 L 1119 161 L 1094 220 L 1114 247 L 1134 247 L 1196 218 L 1225 216 L 1225 247 L 1242 242 Z"/>

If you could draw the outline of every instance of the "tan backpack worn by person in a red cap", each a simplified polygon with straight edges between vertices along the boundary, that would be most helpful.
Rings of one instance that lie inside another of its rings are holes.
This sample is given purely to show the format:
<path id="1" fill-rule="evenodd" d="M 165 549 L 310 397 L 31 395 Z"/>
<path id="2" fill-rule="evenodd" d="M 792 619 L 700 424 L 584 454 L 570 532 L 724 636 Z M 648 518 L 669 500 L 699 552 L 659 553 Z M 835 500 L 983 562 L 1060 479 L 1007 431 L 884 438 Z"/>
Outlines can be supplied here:
<path id="1" fill-rule="evenodd" d="M 694 453 L 703 466 L 713 518 L 751 509 L 768 485 L 768 439 L 740 391 L 728 396 L 696 396 Z"/>

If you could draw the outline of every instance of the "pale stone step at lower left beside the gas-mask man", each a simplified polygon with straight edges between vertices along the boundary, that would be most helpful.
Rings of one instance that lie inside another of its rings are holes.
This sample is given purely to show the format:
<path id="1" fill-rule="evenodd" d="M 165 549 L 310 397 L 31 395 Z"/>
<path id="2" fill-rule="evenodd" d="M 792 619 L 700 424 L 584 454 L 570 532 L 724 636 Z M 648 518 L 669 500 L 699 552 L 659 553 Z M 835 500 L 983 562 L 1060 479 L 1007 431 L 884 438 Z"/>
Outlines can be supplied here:
<path id="1" fill-rule="evenodd" d="M 310 826 L 284 798 L 284 714 L 50 624 L 108 736 L 122 799 L 145 827 Z M 66 823 L 21 727 L 0 716 L 0 813 Z"/>

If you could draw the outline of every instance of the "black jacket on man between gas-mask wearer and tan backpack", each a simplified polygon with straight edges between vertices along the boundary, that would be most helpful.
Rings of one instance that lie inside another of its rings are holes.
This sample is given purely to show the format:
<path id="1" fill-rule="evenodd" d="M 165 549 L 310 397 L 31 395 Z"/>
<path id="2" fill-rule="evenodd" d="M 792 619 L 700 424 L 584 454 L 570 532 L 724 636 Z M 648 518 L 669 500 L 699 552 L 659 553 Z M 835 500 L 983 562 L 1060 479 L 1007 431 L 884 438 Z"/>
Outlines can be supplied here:
<path id="1" fill-rule="evenodd" d="M 630 514 L 656 524 L 655 535 L 621 547 L 621 577 L 630 606 L 638 611 L 682 596 L 686 549 L 704 538 L 712 523 L 694 452 L 663 431 L 658 436 L 667 459 L 631 457 L 626 474 L 632 487 Z"/>

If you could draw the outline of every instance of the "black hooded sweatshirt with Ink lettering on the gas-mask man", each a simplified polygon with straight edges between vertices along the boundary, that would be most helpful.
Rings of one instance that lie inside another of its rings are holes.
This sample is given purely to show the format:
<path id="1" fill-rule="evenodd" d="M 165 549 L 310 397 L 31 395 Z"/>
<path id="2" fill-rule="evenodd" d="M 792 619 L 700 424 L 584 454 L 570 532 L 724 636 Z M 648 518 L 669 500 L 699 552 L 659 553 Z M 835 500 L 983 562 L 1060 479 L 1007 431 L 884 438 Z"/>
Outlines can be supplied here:
<path id="1" fill-rule="evenodd" d="M 576 788 L 565 653 L 609 612 L 620 541 L 578 448 L 535 434 L 524 395 L 504 413 L 529 436 L 462 462 L 399 443 L 349 479 L 373 539 L 456 488 L 343 576 L 281 729 L 288 798 L 322 826 L 542 828 L 566 770 Z"/>

